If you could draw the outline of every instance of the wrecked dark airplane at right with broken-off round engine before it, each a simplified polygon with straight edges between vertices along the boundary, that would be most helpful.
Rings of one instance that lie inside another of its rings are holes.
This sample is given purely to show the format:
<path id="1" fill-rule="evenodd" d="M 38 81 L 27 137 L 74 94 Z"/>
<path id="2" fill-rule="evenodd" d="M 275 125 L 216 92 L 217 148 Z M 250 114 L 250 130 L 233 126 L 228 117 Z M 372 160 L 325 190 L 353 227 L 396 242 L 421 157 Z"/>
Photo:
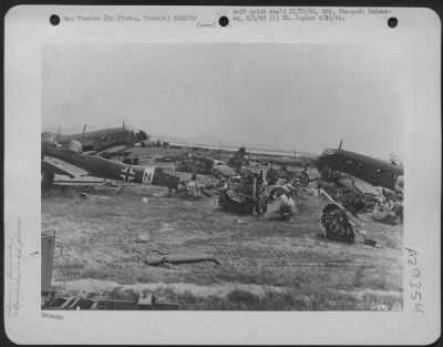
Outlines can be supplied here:
<path id="1" fill-rule="evenodd" d="M 380 223 L 395 225 L 403 221 L 403 166 L 341 149 L 327 149 L 317 159 L 321 173 L 319 192 L 328 197 L 321 216 L 327 236 L 332 239 L 353 242 L 365 232 L 360 229 L 358 213 L 372 212 Z M 341 188 L 327 183 L 333 181 Z M 334 195 L 334 200 L 331 195 Z"/>

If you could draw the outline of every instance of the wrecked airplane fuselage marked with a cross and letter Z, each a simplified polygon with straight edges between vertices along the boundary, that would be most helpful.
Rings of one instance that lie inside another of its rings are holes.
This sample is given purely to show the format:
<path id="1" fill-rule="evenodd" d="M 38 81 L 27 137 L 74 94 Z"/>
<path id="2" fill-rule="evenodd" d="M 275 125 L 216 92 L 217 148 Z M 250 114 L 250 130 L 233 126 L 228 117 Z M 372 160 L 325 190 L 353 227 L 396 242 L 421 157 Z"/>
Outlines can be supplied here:
<path id="1" fill-rule="evenodd" d="M 41 143 L 42 184 L 52 185 L 55 174 L 71 178 L 96 176 L 130 183 L 153 184 L 177 190 L 179 178 L 163 172 L 162 167 L 130 165 L 97 155 L 83 154 L 82 145 L 71 141 L 68 147 L 50 141 Z"/>

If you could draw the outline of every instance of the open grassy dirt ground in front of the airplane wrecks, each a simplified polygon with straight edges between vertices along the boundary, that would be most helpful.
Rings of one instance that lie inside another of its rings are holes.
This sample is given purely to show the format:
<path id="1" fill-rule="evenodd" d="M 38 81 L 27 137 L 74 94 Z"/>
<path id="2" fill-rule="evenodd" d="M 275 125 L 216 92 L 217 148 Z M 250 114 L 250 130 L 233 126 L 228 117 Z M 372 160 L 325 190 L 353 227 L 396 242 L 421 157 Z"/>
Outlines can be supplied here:
<path id="1" fill-rule="evenodd" d="M 207 178 L 210 181 L 210 178 Z M 382 247 L 332 242 L 320 225 L 328 203 L 303 188 L 290 222 L 219 211 L 145 185 L 42 192 L 42 231 L 54 229 L 53 285 L 62 294 L 132 299 L 154 294 L 179 309 L 369 310 L 402 306 L 402 225 L 360 215 Z M 60 254 L 61 253 L 61 254 Z M 148 266 L 146 256 L 206 254 L 212 262 Z"/>

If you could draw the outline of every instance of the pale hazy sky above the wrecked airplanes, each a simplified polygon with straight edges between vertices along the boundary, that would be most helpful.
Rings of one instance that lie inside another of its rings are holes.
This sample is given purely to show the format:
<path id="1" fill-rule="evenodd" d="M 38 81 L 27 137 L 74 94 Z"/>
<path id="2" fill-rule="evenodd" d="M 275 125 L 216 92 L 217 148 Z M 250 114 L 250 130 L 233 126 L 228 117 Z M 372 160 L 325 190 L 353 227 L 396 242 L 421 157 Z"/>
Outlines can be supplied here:
<path id="1" fill-rule="evenodd" d="M 131 124 L 261 149 L 403 157 L 400 45 L 48 44 L 42 130 Z M 63 132 L 62 132 L 63 133 Z"/>

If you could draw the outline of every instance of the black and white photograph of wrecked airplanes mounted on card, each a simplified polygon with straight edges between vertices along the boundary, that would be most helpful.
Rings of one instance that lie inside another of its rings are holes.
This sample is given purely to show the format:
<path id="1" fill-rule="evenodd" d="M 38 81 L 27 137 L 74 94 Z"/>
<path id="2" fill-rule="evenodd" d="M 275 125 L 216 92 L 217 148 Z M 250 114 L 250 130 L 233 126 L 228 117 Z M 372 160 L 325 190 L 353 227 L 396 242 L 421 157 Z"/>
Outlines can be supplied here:
<path id="1" fill-rule="evenodd" d="M 42 307 L 402 310 L 401 50 L 42 49 Z"/>

